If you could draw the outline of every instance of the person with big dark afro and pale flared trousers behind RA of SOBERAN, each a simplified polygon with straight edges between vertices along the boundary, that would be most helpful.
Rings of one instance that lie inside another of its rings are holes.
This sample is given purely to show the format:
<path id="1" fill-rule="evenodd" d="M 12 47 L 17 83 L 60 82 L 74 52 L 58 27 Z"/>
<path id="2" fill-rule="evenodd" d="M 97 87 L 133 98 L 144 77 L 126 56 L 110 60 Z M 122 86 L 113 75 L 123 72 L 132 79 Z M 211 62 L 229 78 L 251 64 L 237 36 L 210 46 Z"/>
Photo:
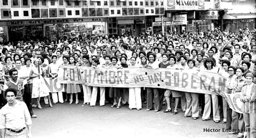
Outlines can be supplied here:
<path id="1" fill-rule="evenodd" d="M 217 72 L 214 68 L 214 61 L 212 58 L 206 59 L 204 62 L 204 70 L 210 72 Z M 205 94 L 205 107 L 202 120 L 210 120 L 211 115 L 211 99 L 212 99 L 212 106 L 213 106 L 213 121 L 218 123 L 220 121 L 219 115 L 219 106 L 218 106 L 218 96 L 217 95 L 207 95 Z"/>

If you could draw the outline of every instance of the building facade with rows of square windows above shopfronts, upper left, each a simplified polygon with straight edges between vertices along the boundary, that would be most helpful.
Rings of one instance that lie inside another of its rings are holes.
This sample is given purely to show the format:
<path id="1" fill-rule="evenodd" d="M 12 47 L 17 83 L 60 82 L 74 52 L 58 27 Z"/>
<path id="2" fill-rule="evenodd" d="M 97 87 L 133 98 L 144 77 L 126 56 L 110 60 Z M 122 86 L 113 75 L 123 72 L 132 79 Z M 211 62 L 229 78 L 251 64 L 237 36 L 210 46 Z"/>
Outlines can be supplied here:
<path id="1" fill-rule="evenodd" d="M 2 0 L 0 9 L 0 42 L 137 35 L 165 12 L 164 0 Z"/>

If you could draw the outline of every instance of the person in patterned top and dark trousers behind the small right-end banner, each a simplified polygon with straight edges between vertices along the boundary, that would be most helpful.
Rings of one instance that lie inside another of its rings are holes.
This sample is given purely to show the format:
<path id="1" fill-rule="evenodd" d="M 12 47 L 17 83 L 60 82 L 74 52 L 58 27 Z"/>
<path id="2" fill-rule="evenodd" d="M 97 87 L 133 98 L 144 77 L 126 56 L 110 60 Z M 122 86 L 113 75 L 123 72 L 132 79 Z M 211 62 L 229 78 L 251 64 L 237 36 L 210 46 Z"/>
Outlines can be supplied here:
<path id="1" fill-rule="evenodd" d="M 238 67 L 235 71 L 235 75 L 237 77 L 234 80 L 234 89 L 232 90 L 232 93 L 241 92 L 242 87 L 245 85 L 245 77 L 244 75 L 244 69 L 241 67 Z M 238 135 L 241 137 L 244 133 L 245 128 L 245 122 L 242 117 L 241 113 L 237 113 L 235 111 L 232 111 L 232 123 L 231 123 L 231 129 L 235 130 L 234 132 L 230 132 L 230 134 L 238 133 Z"/>

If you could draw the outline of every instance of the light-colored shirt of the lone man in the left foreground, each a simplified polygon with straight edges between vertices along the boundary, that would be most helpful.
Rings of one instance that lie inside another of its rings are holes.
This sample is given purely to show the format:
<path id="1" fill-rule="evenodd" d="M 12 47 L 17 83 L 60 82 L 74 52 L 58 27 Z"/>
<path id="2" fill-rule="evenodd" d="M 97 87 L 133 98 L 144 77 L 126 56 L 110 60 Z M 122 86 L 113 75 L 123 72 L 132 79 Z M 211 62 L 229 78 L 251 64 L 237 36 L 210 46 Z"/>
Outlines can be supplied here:
<path id="1" fill-rule="evenodd" d="M 9 128 L 20 130 L 26 125 L 31 125 L 32 120 L 28 107 L 23 101 L 16 100 L 15 106 L 6 104 L 0 112 L 0 129 Z"/>

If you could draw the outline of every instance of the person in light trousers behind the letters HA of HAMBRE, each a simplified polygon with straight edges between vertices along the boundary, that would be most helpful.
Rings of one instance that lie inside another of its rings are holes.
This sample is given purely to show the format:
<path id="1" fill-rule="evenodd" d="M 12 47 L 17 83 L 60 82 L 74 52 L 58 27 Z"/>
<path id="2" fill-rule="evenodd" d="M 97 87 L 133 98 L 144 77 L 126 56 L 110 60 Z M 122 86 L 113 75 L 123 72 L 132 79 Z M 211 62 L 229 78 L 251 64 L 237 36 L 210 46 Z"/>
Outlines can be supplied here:
<path id="1" fill-rule="evenodd" d="M 83 55 L 82 60 L 82 67 L 91 67 L 91 63 L 89 61 L 90 57 L 89 55 Z M 83 105 L 90 105 L 91 102 L 91 95 L 92 95 L 92 88 L 91 86 L 87 86 L 85 84 L 82 84 L 83 86 L 83 91 L 84 91 L 84 103 Z"/>

